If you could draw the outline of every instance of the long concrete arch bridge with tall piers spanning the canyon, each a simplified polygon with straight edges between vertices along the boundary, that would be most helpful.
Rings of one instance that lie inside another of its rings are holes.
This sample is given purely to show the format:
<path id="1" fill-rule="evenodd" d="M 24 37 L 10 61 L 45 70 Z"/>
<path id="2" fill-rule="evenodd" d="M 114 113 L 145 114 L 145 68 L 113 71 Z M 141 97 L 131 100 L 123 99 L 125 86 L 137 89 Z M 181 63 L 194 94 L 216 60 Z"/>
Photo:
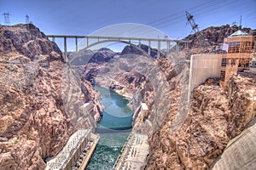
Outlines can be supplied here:
<path id="1" fill-rule="evenodd" d="M 48 38 L 52 38 L 52 41 L 55 42 L 55 38 L 63 38 L 64 41 L 64 57 L 65 60 L 67 60 L 67 38 L 73 38 L 75 39 L 75 51 L 78 52 L 78 39 L 85 39 L 85 47 L 84 48 L 90 48 L 92 46 L 95 46 L 96 44 L 102 43 L 102 42 L 123 42 L 130 45 L 135 45 L 132 42 L 138 42 L 138 48 L 141 48 L 142 42 L 148 42 L 148 54 L 150 54 L 150 48 L 152 47 L 152 42 L 157 42 L 157 56 L 160 56 L 160 48 L 161 43 L 166 45 L 166 52 L 170 53 L 171 43 L 175 42 L 176 47 L 175 51 L 178 52 L 180 46 L 182 45 L 185 48 L 189 47 L 189 41 L 183 41 L 183 40 L 172 40 L 169 38 L 145 38 L 145 37 L 104 37 L 104 36 L 67 36 L 67 35 L 46 35 Z"/>

